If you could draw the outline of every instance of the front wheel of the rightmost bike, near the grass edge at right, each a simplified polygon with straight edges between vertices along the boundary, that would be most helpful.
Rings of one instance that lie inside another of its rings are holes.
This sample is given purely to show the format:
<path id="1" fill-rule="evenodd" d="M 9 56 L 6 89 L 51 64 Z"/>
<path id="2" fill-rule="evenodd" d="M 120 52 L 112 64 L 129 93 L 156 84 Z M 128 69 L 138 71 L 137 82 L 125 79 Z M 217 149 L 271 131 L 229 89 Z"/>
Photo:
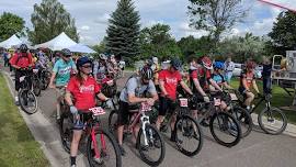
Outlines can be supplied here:
<path id="1" fill-rule="evenodd" d="M 258 115 L 260 127 L 267 134 L 281 134 L 287 127 L 287 118 L 282 110 L 277 108 L 265 108 Z"/>

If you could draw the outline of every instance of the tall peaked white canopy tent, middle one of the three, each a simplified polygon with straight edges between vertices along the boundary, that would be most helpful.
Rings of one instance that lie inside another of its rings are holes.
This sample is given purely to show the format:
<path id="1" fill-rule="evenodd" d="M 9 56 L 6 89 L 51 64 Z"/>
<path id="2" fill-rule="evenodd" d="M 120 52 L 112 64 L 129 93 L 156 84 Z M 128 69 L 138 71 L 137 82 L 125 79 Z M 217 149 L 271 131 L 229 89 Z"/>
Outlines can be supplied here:
<path id="1" fill-rule="evenodd" d="M 62 48 L 69 48 L 73 45 L 77 45 L 77 43 L 62 32 L 58 36 L 46 43 L 35 45 L 35 48 L 46 47 L 53 51 L 61 51 Z"/>

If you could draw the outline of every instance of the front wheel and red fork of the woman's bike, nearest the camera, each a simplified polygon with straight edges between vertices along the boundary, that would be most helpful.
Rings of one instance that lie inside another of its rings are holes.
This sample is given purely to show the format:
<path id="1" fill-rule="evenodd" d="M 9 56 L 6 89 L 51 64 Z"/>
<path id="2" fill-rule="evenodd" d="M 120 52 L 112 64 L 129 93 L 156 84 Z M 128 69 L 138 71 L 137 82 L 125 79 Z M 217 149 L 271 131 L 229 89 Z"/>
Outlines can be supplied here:
<path id="1" fill-rule="evenodd" d="M 96 148 L 99 151 L 100 157 L 95 157 L 93 141 L 91 135 L 88 138 L 87 144 L 87 154 L 89 165 L 91 167 L 96 166 L 114 166 L 121 167 L 122 166 L 122 155 L 119 152 L 119 147 L 115 142 L 115 138 L 111 133 L 104 130 L 95 131 L 95 142 Z"/>

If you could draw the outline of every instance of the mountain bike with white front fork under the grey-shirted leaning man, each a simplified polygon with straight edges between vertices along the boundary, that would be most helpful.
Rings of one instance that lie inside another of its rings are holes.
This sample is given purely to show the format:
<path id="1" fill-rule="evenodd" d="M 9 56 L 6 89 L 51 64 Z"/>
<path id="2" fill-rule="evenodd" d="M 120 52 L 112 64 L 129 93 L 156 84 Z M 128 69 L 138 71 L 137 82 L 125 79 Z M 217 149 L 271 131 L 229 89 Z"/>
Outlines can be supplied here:
<path id="1" fill-rule="evenodd" d="M 117 110 L 113 110 L 109 115 L 109 129 L 113 134 L 117 130 Z M 140 130 L 137 134 L 136 147 L 146 164 L 158 166 L 164 158 L 166 146 L 158 130 L 150 124 L 148 112 L 151 112 L 151 107 L 145 102 L 138 109 L 130 110 L 128 125 L 125 126 L 124 134 L 132 134 L 133 129 L 139 123 Z"/>

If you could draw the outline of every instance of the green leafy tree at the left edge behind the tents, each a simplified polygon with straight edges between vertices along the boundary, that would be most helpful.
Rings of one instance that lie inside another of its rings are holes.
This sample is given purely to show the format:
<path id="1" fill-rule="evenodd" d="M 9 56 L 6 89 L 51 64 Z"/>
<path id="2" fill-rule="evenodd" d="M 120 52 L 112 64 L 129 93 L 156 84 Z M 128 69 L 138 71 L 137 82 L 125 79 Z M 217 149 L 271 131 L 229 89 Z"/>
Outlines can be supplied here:
<path id="1" fill-rule="evenodd" d="M 13 34 L 24 35 L 25 21 L 12 13 L 4 12 L 0 15 L 0 41 L 7 40 Z"/>

